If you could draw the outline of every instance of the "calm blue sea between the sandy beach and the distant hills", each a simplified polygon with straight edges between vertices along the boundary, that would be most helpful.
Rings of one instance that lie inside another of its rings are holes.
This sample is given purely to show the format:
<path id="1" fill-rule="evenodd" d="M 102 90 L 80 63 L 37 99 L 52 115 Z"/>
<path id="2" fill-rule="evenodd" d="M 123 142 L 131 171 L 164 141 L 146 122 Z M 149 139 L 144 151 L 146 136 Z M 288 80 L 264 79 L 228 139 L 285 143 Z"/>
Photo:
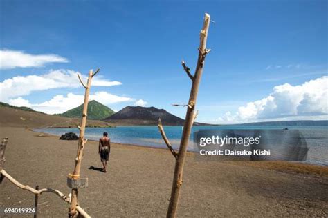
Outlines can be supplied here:
<path id="1" fill-rule="evenodd" d="M 328 166 L 328 126 L 286 126 L 299 130 L 307 142 L 307 163 Z M 188 150 L 194 151 L 193 132 L 198 130 L 281 130 L 283 126 L 193 126 Z M 179 148 L 183 126 L 164 126 L 165 134 L 174 149 Z M 62 135 L 66 132 L 79 134 L 78 128 L 39 128 L 35 132 Z M 98 141 L 103 132 L 108 132 L 111 141 L 152 148 L 167 148 L 157 126 L 117 126 L 112 128 L 86 128 L 85 138 Z"/>

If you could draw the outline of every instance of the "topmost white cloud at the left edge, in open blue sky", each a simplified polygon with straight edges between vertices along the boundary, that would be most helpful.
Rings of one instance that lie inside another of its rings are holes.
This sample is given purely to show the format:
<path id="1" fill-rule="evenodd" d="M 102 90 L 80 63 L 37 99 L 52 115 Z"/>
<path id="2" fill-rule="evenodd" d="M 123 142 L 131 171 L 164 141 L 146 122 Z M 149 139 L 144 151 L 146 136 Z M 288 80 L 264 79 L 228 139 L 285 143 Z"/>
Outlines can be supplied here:
<path id="1" fill-rule="evenodd" d="M 57 54 L 27 54 L 22 51 L 0 50 L 0 69 L 42 67 L 46 63 L 67 63 Z"/>

